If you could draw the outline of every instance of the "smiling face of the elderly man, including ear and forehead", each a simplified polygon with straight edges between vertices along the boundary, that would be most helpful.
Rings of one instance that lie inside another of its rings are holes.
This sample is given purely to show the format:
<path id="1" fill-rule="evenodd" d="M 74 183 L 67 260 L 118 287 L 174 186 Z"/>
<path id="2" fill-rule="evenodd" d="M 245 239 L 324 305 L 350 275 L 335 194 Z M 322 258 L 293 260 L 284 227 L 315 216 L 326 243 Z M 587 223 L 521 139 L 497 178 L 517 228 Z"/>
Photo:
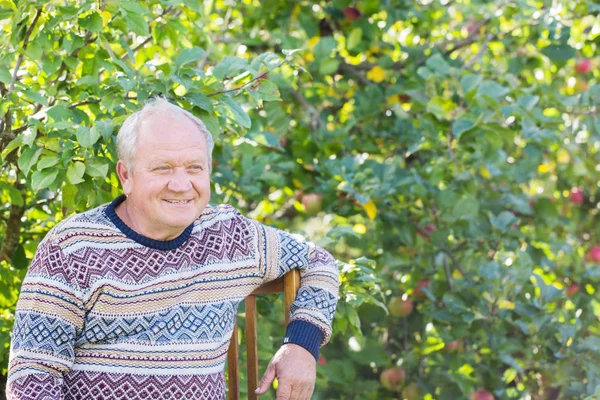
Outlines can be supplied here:
<path id="1" fill-rule="evenodd" d="M 177 237 L 210 200 L 206 139 L 189 118 L 156 113 L 139 126 L 133 166 L 117 172 L 131 228 L 157 240 Z"/>

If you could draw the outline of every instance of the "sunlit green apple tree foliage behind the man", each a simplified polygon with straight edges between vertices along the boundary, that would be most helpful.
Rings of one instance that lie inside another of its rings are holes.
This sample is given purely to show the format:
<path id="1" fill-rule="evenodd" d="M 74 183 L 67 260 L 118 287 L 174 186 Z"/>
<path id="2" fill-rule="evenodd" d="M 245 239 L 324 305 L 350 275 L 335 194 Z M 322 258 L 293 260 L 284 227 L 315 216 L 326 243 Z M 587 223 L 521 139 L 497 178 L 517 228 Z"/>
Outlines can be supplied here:
<path id="1" fill-rule="evenodd" d="M 414 398 L 600 398 L 600 269 L 585 257 L 600 241 L 599 12 L 581 0 L 0 0 L 3 373 L 37 244 L 119 193 L 115 134 L 161 93 L 216 138 L 213 203 L 340 260 L 315 399 L 410 396 L 380 384 L 393 366 Z M 575 71 L 582 59 L 591 72 Z M 406 318 L 386 311 L 398 296 L 414 301 Z M 259 306 L 264 370 L 281 300 Z"/>

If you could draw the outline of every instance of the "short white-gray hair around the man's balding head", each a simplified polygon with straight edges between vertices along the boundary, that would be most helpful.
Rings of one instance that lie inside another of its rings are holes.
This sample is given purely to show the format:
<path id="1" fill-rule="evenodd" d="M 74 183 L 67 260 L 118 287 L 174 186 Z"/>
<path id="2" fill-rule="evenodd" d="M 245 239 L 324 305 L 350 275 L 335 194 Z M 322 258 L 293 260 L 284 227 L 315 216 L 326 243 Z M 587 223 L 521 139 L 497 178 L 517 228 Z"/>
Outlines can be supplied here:
<path id="1" fill-rule="evenodd" d="M 162 96 L 157 96 L 148 100 L 141 110 L 134 112 L 127 117 L 125 122 L 123 122 L 123 125 L 117 134 L 117 155 L 119 156 L 119 159 L 123 160 L 128 169 L 133 166 L 139 126 L 146 118 L 160 111 L 178 113 L 191 119 L 192 122 L 198 126 L 198 129 L 200 129 L 200 132 L 202 132 L 206 139 L 208 171 L 212 172 L 212 151 L 215 147 L 215 142 L 208 129 L 206 129 L 206 125 L 189 111 L 169 103 L 169 101 Z"/>

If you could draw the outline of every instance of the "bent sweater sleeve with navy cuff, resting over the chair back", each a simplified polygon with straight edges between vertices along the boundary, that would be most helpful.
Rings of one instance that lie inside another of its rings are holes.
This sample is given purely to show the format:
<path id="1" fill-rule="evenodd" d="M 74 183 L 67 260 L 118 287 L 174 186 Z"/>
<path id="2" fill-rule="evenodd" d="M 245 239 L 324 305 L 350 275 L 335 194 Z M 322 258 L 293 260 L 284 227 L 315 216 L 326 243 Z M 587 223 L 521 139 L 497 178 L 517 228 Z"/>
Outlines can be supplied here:
<path id="1" fill-rule="evenodd" d="M 283 344 L 300 345 L 318 359 L 319 348 L 331 337 L 339 297 L 337 263 L 326 250 L 301 236 L 256 224 L 263 243 L 265 282 L 294 268 L 300 271 L 300 289 L 290 308 Z"/>

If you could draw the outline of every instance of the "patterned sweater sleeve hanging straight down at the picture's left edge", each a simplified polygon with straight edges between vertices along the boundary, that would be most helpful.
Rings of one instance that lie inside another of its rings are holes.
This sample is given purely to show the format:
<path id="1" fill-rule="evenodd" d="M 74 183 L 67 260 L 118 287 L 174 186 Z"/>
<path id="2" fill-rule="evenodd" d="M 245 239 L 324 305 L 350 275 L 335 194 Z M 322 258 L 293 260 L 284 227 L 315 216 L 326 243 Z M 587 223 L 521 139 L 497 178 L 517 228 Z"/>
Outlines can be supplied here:
<path id="1" fill-rule="evenodd" d="M 63 398 L 63 375 L 75 358 L 84 320 L 62 249 L 44 240 L 23 280 L 10 346 L 8 400 Z"/>

